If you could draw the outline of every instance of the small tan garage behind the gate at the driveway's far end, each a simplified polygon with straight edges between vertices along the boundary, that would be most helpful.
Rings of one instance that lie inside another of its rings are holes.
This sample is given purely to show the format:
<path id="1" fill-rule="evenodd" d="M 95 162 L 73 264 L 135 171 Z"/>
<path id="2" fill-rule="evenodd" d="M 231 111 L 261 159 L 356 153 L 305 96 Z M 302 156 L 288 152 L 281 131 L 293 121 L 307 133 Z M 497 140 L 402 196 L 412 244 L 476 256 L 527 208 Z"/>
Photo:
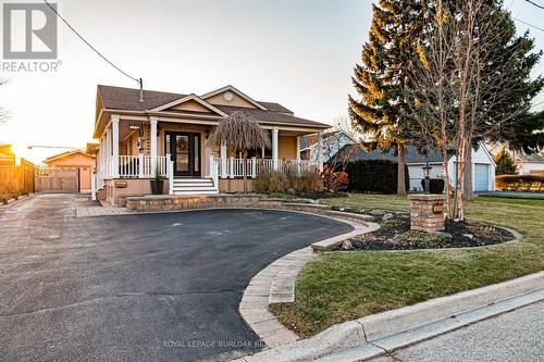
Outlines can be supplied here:
<path id="1" fill-rule="evenodd" d="M 78 170 L 79 190 L 82 192 L 90 191 L 91 176 L 95 173 L 96 159 L 82 150 L 62 152 L 51 155 L 44 160 L 50 168 Z"/>

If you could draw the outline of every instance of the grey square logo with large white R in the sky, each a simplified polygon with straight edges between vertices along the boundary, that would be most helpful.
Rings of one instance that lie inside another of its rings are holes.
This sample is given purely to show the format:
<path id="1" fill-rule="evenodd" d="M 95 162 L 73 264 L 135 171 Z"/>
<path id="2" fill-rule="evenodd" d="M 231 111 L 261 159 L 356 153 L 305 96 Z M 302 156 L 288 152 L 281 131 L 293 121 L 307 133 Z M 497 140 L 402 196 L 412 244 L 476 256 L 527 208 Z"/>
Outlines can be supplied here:
<path id="1" fill-rule="evenodd" d="M 2 13 L 3 59 L 57 58 L 57 15 L 47 4 L 9 2 Z"/>

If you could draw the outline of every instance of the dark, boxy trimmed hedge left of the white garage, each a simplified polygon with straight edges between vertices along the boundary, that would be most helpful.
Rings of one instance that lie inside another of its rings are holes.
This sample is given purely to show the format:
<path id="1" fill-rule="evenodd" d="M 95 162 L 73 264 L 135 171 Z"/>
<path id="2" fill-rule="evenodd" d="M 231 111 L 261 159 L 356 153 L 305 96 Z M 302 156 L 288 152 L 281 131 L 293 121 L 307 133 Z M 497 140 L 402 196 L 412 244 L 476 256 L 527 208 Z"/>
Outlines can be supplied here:
<path id="1" fill-rule="evenodd" d="M 349 162 L 344 170 L 349 176 L 347 190 L 355 192 L 397 194 L 397 163 L 387 160 Z M 410 189 L 408 166 L 405 167 L 406 189 Z"/>

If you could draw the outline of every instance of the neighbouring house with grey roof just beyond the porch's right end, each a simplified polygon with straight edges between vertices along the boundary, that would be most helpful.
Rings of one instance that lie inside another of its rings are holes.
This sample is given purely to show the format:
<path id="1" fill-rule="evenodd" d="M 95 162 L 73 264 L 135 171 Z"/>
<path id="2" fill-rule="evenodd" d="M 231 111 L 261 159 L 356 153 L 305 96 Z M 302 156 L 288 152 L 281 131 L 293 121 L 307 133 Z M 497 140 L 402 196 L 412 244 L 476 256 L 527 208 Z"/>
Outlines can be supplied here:
<path id="1" fill-rule="evenodd" d="M 300 138 L 300 157 L 302 160 L 329 162 L 344 146 L 356 141 L 344 130 L 333 130 L 322 134 L 322 154 L 319 155 L 319 135 L 309 135 Z"/>

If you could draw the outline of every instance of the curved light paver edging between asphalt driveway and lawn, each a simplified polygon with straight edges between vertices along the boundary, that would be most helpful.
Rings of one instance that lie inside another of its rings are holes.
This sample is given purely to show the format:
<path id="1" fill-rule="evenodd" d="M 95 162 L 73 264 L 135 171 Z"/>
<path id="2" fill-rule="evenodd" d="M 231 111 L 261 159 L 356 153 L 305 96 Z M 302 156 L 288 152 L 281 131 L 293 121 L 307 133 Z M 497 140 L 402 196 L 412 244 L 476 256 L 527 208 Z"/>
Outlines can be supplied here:
<path id="1" fill-rule="evenodd" d="M 289 211 L 314 214 L 305 211 Z M 353 215 L 348 213 L 335 212 L 335 217 L 323 214 L 318 215 L 349 224 L 354 227 L 354 230 L 317 241 L 310 247 L 293 251 L 275 260 L 251 278 L 242 297 L 238 307 L 242 317 L 268 347 L 284 346 L 298 340 L 298 336 L 280 323 L 275 315 L 269 312 L 268 307 L 271 303 L 295 301 L 297 275 L 305 264 L 316 255 L 313 251 L 329 250 L 329 248 L 334 248 L 346 239 L 380 228 L 380 225 L 375 223 L 362 224 L 361 222 L 355 222 Z"/>

